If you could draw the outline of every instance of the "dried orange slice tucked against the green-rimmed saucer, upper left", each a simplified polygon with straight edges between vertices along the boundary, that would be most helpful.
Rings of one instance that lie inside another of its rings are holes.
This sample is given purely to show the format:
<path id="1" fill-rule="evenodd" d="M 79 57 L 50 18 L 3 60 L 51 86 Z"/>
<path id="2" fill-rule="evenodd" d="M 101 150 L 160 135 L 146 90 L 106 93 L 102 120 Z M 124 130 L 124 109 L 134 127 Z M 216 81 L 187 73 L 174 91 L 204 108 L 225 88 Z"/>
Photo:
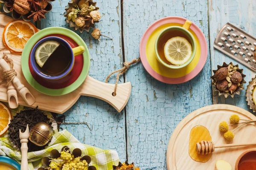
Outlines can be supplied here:
<path id="1" fill-rule="evenodd" d="M 3 30 L 3 43 L 10 51 L 21 54 L 26 42 L 37 31 L 32 23 L 14 20 Z"/>

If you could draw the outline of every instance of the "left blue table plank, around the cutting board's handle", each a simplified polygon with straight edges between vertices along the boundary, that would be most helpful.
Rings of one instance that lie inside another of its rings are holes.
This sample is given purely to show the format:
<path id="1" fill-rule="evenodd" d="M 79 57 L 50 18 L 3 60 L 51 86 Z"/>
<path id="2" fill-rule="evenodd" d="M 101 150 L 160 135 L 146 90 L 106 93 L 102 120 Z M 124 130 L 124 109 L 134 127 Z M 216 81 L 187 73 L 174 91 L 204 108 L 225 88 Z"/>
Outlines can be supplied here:
<path id="1" fill-rule="evenodd" d="M 120 2 L 118 0 L 97 0 L 97 6 L 102 14 L 102 19 L 96 24 L 102 34 L 113 37 L 112 40 L 101 38 L 101 41 L 94 40 L 90 34 L 84 31 L 82 34 L 76 31 L 87 44 L 91 66 L 89 75 L 100 81 L 112 71 L 122 67 L 122 50 L 120 49 L 121 27 L 120 23 Z M 41 28 L 50 26 L 61 26 L 68 28 L 63 16 L 64 8 L 68 0 L 56 0 L 52 3 L 52 11 L 41 20 Z M 111 83 L 115 81 L 113 77 Z M 124 80 L 120 78 L 120 82 Z M 90 144 L 102 149 L 117 150 L 122 161 L 126 159 L 125 142 L 125 113 L 117 113 L 108 103 L 92 97 L 80 97 L 78 102 L 66 113 L 66 122 L 86 121 L 93 125 L 90 131 L 86 125 L 62 125 L 80 142 Z"/>

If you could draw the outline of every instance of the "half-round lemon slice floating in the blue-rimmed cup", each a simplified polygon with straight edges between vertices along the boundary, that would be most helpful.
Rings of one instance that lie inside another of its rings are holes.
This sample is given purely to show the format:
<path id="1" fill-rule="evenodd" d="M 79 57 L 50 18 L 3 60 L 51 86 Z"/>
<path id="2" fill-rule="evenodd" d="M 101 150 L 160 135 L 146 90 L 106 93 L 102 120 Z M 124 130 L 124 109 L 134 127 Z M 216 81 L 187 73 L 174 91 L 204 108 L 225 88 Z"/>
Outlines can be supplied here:
<path id="1" fill-rule="evenodd" d="M 43 67 L 44 63 L 49 59 L 52 53 L 58 48 L 60 45 L 57 41 L 45 41 L 38 46 L 35 51 L 35 60 L 40 67 Z"/>

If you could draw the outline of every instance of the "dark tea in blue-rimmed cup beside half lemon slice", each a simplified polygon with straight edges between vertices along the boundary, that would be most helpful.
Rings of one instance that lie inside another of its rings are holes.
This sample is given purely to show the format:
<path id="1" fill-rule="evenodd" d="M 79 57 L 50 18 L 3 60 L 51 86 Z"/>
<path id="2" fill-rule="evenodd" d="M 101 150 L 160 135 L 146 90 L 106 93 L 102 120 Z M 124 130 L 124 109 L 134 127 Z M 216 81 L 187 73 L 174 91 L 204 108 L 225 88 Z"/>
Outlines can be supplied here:
<path id="1" fill-rule="evenodd" d="M 43 74 L 57 76 L 64 73 L 64 71 L 66 71 L 70 66 L 71 57 L 73 56 L 70 55 L 69 48 L 60 44 L 44 63 L 42 68 L 39 65 L 37 66 Z"/>

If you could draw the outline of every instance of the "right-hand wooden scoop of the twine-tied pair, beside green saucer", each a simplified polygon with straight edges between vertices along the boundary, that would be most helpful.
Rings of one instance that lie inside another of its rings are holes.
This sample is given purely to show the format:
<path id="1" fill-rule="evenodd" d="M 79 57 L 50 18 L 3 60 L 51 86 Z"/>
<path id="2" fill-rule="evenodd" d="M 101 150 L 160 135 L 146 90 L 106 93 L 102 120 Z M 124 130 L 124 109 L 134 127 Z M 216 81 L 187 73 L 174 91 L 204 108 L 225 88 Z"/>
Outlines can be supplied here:
<path id="1" fill-rule="evenodd" d="M 0 68 L 5 71 L 10 70 L 10 66 L 3 58 L 0 58 Z M 14 87 L 19 91 L 20 96 L 24 99 L 27 105 L 31 106 L 35 103 L 35 97 L 30 93 L 30 91 L 20 82 L 17 76 L 13 79 Z M 10 87 L 11 89 L 12 87 Z"/>

